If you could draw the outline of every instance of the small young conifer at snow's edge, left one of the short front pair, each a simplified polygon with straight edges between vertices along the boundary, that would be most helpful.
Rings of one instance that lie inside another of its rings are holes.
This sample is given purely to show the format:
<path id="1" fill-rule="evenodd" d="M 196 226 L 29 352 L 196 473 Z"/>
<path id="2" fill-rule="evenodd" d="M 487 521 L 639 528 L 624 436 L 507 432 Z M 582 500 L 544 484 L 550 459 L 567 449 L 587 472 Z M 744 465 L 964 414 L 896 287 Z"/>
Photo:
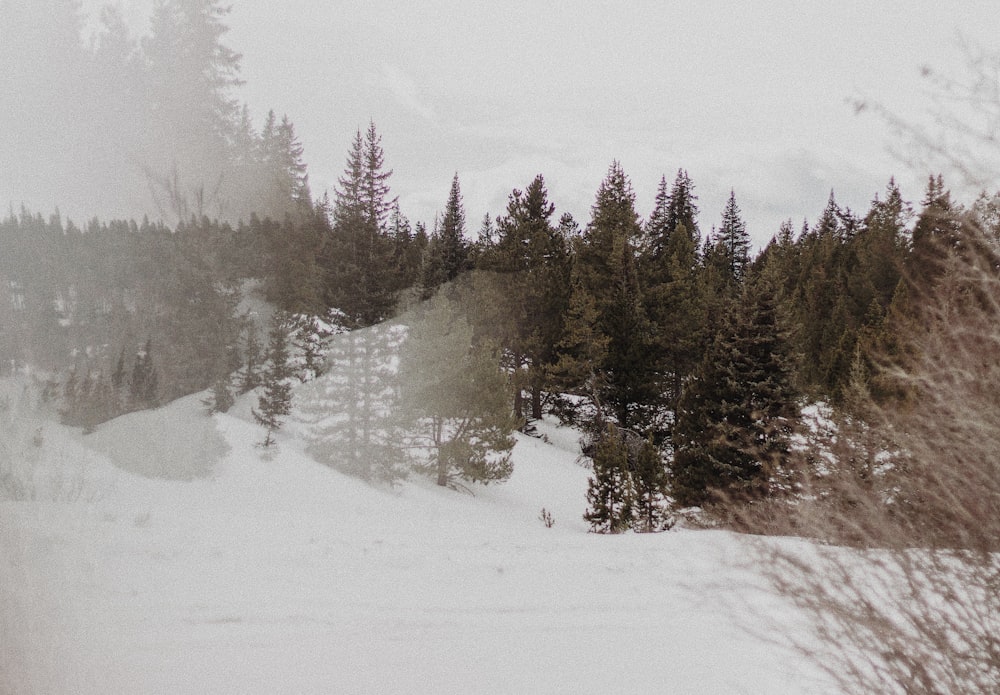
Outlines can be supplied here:
<path id="1" fill-rule="evenodd" d="M 597 441 L 593 474 L 587 484 L 589 507 L 583 518 L 594 533 L 622 533 L 632 524 L 635 490 L 628 465 L 628 445 L 609 424 Z"/>

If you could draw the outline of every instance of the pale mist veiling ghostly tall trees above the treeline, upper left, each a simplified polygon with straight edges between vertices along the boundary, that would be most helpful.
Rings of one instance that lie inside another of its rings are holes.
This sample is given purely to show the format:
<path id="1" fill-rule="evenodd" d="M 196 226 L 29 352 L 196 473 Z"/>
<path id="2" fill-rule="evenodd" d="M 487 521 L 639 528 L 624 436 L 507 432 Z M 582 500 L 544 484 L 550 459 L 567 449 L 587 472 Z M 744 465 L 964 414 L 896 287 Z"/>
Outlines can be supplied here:
<path id="1" fill-rule="evenodd" d="M 202 5 L 158 4 L 140 37 L 112 8 L 0 2 L 0 200 L 77 221 L 280 216 L 267 149 L 297 147 L 292 126 L 253 122 L 227 11 Z"/>

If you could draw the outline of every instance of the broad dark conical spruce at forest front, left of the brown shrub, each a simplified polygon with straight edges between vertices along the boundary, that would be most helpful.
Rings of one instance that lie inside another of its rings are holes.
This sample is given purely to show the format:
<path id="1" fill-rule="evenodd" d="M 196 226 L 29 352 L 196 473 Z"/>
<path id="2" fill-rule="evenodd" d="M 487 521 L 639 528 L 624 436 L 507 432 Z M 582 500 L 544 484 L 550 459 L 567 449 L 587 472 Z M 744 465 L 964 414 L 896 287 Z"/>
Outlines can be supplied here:
<path id="1" fill-rule="evenodd" d="M 671 465 L 675 502 L 766 495 L 787 453 L 796 398 L 774 289 L 748 288 L 681 397 Z"/>

